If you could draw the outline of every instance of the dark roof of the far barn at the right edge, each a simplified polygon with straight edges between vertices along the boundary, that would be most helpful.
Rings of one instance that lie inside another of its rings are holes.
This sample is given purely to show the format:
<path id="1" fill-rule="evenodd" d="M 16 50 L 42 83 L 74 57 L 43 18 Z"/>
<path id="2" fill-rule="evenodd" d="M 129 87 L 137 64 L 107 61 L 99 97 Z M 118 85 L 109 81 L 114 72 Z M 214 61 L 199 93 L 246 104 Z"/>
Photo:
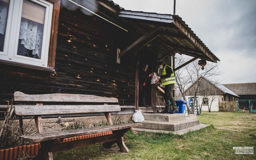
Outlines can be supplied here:
<path id="1" fill-rule="evenodd" d="M 223 84 L 238 95 L 256 95 L 256 83 Z"/>

